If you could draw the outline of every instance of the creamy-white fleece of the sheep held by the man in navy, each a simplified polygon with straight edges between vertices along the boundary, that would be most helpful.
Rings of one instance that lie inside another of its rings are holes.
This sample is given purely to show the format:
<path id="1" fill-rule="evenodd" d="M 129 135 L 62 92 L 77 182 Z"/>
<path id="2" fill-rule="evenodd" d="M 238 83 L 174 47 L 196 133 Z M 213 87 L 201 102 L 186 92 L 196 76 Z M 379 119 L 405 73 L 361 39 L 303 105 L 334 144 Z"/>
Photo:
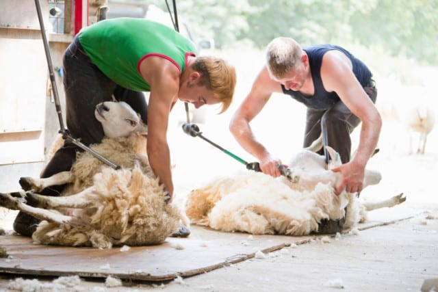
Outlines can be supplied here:
<path id="1" fill-rule="evenodd" d="M 322 219 L 344 217 L 346 228 L 359 222 L 354 195 L 336 196 L 329 183 L 296 190 L 259 172 L 240 172 L 192 191 L 186 213 L 193 224 L 252 234 L 309 235 Z M 350 209 L 352 212 L 350 213 Z"/>

